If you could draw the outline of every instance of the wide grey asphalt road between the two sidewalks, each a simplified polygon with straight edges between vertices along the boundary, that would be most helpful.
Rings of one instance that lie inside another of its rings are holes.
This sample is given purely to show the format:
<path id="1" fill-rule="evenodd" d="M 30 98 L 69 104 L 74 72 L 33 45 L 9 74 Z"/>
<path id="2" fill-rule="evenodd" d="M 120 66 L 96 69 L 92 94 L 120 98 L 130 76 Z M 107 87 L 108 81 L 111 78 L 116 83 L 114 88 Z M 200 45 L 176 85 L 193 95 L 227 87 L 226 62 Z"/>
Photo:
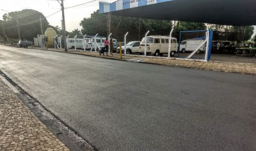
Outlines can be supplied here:
<path id="1" fill-rule="evenodd" d="M 256 76 L 0 45 L 0 70 L 99 151 L 255 151 Z"/>

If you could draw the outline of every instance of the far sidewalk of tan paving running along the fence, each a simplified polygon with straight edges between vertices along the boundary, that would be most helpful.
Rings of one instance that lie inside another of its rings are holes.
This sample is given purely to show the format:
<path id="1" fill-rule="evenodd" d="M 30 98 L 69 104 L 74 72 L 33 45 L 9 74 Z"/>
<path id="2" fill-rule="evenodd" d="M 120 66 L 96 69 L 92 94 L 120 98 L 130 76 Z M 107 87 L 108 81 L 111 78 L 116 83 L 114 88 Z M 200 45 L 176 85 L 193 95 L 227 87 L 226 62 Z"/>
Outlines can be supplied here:
<path id="1" fill-rule="evenodd" d="M 41 49 L 41 48 L 35 47 L 35 49 Z M 176 66 L 176 67 L 193 68 L 193 69 L 204 69 L 204 70 L 256 75 L 256 64 L 217 62 L 217 61 L 201 62 L 201 61 L 193 61 L 193 60 L 178 60 L 175 58 L 171 58 L 171 59 L 170 58 L 147 58 L 142 56 L 123 56 L 122 59 L 119 59 L 120 55 L 116 53 L 114 53 L 113 56 L 110 54 L 109 56 L 106 56 L 106 55 L 99 56 L 99 53 L 75 51 L 75 50 L 68 50 L 68 52 L 65 52 L 63 49 L 48 49 L 48 51 L 58 51 L 58 52 L 80 54 L 80 55 L 87 55 L 87 56 L 97 56 L 102 58 L 135 61 L 135 62 L 142 62 L 142 63 L 149 63 L 149 64 L 160 64 L 160 65 L 168 65 L 168 66 Z"/>

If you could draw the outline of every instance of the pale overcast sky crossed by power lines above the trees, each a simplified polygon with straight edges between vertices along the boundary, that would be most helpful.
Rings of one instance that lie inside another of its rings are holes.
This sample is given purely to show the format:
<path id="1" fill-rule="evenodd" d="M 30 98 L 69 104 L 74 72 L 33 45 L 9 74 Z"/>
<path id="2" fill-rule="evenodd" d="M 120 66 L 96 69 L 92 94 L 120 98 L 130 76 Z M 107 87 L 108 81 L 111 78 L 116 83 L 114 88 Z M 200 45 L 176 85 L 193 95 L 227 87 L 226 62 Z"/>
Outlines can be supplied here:
<path id="1" fill-rule="evenodd" d="M 64 7 L 70 7 L 91 0 L 64 0 Z M 76 28 L 81 30 L 79 23 L 83 18 L 90 17 L 90 14 L 99 9 L 99 1 L 114 2 L 116 0 L 96 0 L 85 5 L 65 9 L 66 30 L 72 31 Z M 22 9 L 35 9 L 44 14 L 44 16 L 51 15 L 60 10 L 61 6 L 56 0 L 1 0 L 0 9 L 6 11 L 21 11 Z M 6 13 L 0 10 L 0 19 Z M 61 27 L 61 11 L 47 18 L 50 25 Z M 254 35 L 256 33 L 256 26 L 254 26 Z"/>

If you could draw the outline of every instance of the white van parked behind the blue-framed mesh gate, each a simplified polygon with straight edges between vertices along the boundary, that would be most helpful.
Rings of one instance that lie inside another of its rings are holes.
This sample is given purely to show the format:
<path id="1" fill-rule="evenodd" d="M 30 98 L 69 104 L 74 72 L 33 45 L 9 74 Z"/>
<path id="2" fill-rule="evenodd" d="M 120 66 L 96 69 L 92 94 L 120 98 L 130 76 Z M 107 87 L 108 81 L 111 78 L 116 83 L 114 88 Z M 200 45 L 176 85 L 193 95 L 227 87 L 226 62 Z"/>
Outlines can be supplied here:
<path id="1" fill-rule="evenodd" d="M 180 51 L 186 53 L 186 51 L 195 51 L 204 42 L 203 39 L 187 39 L 180 43 Z M 206 46 L 203 45 L 198 49 L 196 53 L 201 53 L 206 50 Z"/>

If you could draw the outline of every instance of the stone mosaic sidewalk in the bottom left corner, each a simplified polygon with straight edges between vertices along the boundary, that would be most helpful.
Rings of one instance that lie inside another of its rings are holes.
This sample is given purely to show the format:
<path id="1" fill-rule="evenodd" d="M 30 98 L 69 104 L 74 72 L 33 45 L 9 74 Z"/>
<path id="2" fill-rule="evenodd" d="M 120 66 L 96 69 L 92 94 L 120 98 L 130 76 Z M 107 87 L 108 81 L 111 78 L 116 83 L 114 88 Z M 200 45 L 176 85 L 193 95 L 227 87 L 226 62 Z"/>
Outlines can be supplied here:
<path id="1" fill-rule="evenodd" d="M 69 151 L 1 79 L 0 151 Z"/>

